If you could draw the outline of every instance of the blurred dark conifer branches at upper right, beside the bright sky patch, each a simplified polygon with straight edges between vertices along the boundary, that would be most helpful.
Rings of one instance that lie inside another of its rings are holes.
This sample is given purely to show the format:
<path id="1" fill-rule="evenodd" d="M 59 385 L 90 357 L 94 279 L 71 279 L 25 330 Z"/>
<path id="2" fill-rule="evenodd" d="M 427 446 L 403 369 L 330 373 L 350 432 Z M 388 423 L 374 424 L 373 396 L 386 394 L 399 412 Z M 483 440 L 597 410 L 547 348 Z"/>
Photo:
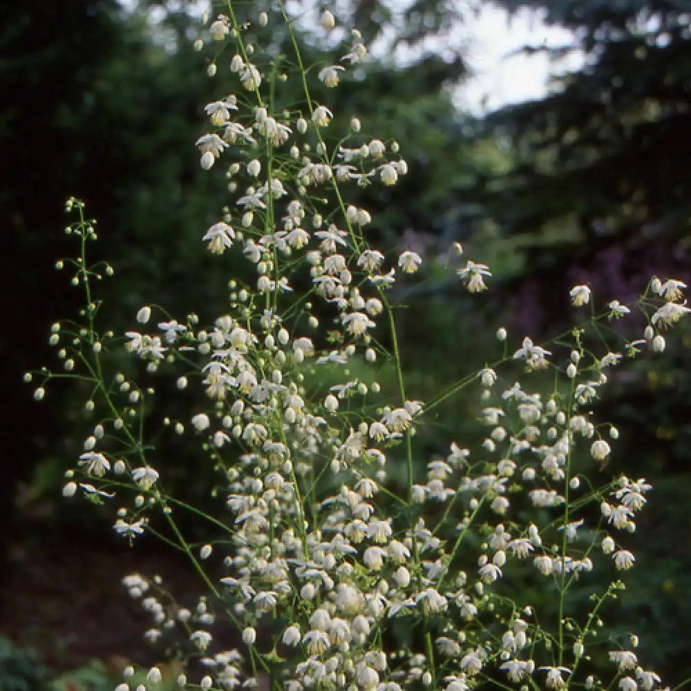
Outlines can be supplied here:
<path id="1" fill-rule="evenodd" d="M 548 25 L 573 32 L 569 45 L 528 53 L 583 57 L 583 68 L 553 79 L 545 98 L 482 123 L 510 142 L 514 164 L 500 180 L 485 178 L 480 196 L 523 267 L 558 280 L 575 264 L 569 279 L 620 296 L 647 272 L 683 272 L 691 250 L 691 2 L 498 4 L 539 10 Z"/>

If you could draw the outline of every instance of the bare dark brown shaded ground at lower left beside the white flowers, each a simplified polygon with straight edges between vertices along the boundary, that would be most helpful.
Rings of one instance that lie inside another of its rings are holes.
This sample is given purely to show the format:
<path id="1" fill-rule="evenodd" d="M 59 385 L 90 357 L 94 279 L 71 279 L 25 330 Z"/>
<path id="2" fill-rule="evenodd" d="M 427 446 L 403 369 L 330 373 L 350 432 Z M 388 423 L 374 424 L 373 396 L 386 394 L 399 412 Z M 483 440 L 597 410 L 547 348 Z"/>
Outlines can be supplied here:
<path id="1" fill-rule="evenodd" d="M 53 670 L 100 659 L 114 670 L 130 660 L 144 662 L 142 634 L 153 622 L 127 596 L 122 577 L 138 571 L 162 574 L 178 594 L 198 591 L 186 562 L 156 540 L 130 547 L 108 533 L 94 536 L 43 522 L 28 524 L 6 554 L 0 578 L 0 635 L 35 647 Z"/>

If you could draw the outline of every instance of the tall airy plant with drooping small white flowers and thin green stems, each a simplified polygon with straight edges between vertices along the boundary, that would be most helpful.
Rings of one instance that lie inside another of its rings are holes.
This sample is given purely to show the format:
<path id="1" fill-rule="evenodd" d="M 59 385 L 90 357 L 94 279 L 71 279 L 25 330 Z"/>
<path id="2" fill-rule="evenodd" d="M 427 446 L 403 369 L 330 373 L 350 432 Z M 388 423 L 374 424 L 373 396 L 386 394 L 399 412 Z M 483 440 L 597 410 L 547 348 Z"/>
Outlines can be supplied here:
<path id="1" fill-rule="evenodd" d="M 357 118 L 334 133 L 330 104 L 313 96 L 315 85 L 336 88 L 366 47 L 325 10 L 314 21 L 348 36 L 343 57 L 306 65 L 293 19 L 280 0 L 274 10 L 290 56 L 255 44 L 269 17 L 251 3 L 228 2 L 196 43 L 213 56 L 209 75 L 223 65 L 236 77 L 234 93 L 205 107 L 208 131 L 196 142 L 202 169 L 223 171 L 230 194 L 202 240 L 218 261 L 249 267 L 230 277 L 224 314 L 202 328 L 196 315 L 178 321 L 144 306 L 124 339 L 100 331 L 93 290 L 111 269 L 89 265 L 95 226 L 82 202 L 68 202 L 80 252 L 59 268 L 84 288 L 86 323 L 55 324 L 61 369 L 27 379 L 38 380 L 36 399 L 51 379 L 87 382 L 87 409 L 106 413 L 64 495 L 112 507 L 122 538 L 159 535 L 196 570 L 198 593 L 177 596 L 160 576 L 124 577 L 151 614 L 144 635 L 162 639 L 176 661 L 180 688 L 660 688 L 638 661 L 636 636 L 615 638 L 603 621 L 623 588 L 619 575 L 634 566 L 632 533 L 651 487 L 625 475 L 599 486 L 587 458 L 604 464 L 617 437 L 591 416 L 609 370 L 663 350 L 665 328 L 689 312 L 685 285 L 650 281 L 635 305 L 645 316 L 636 341 L 613 328 L 634 305 L 612 300 L 600 313 L 589 287 L 576 286 L 571 302 L 589 312 L 558 342 L 545 347 L 501 328 L 484 368 L 415 399 L 395 296 L 408 274 L 425 270 L 422 258 L 377 249 L 375 220 L 352 202 L 359 187 L 396 184 L 406 162 L 396 142 L 364 135 Z M 301 103 L 283 106 L 287 80 L 299 82 Z M 452 251 L 462 254 L 460 245 Z M 474 261 L 455 270 L 459 290 L 471 293 L 491 278 Z M 167 490 L 166 462 L 147 442 L 160 431 L 155 388 L 105 375 L 104 353 L 123 347 L 149 372 L 174 372 L 180 390 L 203 392 L 204 404 L 161 425 L 198 439 L 191 463 L 216 470 L 209 491 L 225 498 L 220 511 Z M 392 390 L 377 381 L 385 368 Z M 325 371 L 337 372 L 332 386 Z M 417 431 L 466 389 L 477 392 L 486 434 L 450 435 L 444 453 L 422 457 Z M 184 535 L 180 518 L 189 516 L 205 541 Z M 507 595 L 515 574 L 532 584 L 524 596 Z M 583 584 L 587 606 L 574 600 Z M 544 612 L 544 598 L 529 595 L 536 587 L 551 598 Z M 606 676 L 592 661 L 603 653 Z M 162 681 L 158 667 L 139 676 L 129 667 L 117 691 Z"/>

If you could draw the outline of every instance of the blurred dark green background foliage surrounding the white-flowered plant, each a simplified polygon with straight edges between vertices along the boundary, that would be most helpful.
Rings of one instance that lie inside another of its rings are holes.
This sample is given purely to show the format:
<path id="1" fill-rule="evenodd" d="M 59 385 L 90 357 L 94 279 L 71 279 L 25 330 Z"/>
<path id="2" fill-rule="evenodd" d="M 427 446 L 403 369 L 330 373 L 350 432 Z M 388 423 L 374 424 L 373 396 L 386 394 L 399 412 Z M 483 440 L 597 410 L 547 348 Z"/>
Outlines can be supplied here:
<path id="1" fill-rule="evenodd" d="M 462 21 L 455 4 L 419 0 L 403 16 L 379 0 L 360 0 L 352 17 L 366 39 L 390 30 L 391 47 L 413 48 L 408 55 L 416 57 L 396 64 L 375 56 L 328 94 L 341 122 L 357 114 L 366 135 L 398 140 L 410 167 L 396 187 L 359 191 L 352 201 L 370 209 L 378 243 L 412 247 L 428 260 L 395 294 L 410 393 L 423 400 L 439 381 L 482 366 L 496 349 L 498 325 L 510 327 L 515 343 L 528 332 L 536 339 L 561 332 L 575 283 L 589 283 L 603 305 L 631 299 L 652 273 L 691 278 L 691 1 L 499 4 L 540 10 L 548 23 L 573 30 L 574 44 L 564 50 L 583 51 L 586 66 L 542 100 L 473 119 L 452 97 L 468 56 L 424 48 L 453 38 Z M 202 176 L 193 142 L 203 132 L 204 104 L 234 86 L 226 57 L 214 80 L 205 77 L 206 58 L 191 47 L 196 19 L 184 8 L 142 1 L 124 10 L 114 0 L 0 6 L 4 555 L 39 514 L 55 531 L 67 519 L 83 520 L 83 507 L 55 500 L 88 429 L 83 399 L 50 386 L 37 406 L 21 384 L 22 372 L 48 362 L 50 323 L 79 307 L 66 277 L 52 270 L 73 252 L 61 231 L 66 198 L 83 198 L 98 219 L 93 251 L 116 269 L 103 308 L 115 332 L 130 328 L 145 303 L 165 305 L 173 316 L 194 310 L 202 320 L 227 304 L 234 267 L 200 242 L 227 196 L 222 181 Z M 260 38 L 289 52 L 279 21 L 262 31 Z M 429 35 L 443 40 L 424 44 Z M 334 48 L 324 57 L 314 36 L 299 39 L 312 68 L 341 54 Z M 295 93 L 284 92 L 286 104 L 301 98 L 290 84 Z M 442 270 L 456 240 L 468 257 L 491 264 L 491 294 L 471 299 Z M 691 673 L 683 628 L 691 620 L 690 332 L 669 341 L 664 357 L 613 375 L 598 416 L 621 429 L 604 473 L 645 476 L 656 487 L 638 529 L 632 587 L 615 616 L 622 630 L 647 638 L 647 661 L 671 682 Z M 113 358 L 112 366 L 125 364 Z M 189 417 L 193 401 L 172 387 L 168 394 L 160 414 Z M 446 453 L 451 439 L 462 446 L 482 439 L 470 404 L 476 395 L 436 411 L 421 437 L 430 455 Z M 174 454 L 180 486 L 191 495 L 207 482 L 203 473 L 189 475 L 194 453 L 190 446 Z M 106 522 L 79 525 L 91 527 L 110 530 Z"/>

